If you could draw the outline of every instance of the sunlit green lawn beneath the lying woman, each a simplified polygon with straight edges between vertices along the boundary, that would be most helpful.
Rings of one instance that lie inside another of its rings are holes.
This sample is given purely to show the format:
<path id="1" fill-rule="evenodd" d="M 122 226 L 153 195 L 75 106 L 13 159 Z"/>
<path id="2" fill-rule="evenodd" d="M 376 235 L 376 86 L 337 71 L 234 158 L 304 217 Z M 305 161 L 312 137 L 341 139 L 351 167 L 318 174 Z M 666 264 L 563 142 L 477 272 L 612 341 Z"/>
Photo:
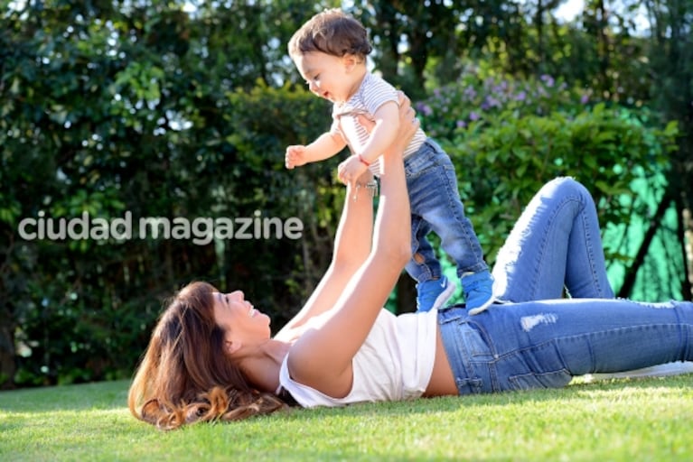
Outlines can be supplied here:
<path id="1" fill-rule="evenodd" d="M 693 374 L 155 430 L 126 382 L 0 393 L 0 460 L 690 460 Z"/>

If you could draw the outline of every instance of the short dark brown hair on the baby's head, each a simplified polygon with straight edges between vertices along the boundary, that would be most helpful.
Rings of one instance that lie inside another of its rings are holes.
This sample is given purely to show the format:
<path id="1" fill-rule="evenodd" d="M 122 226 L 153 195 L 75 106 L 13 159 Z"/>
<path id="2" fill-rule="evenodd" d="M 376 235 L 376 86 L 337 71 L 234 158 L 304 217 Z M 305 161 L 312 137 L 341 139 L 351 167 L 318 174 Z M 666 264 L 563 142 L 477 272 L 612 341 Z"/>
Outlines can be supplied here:
<path id="1" fill-rule="evenodd" d="M 294 33 L 289 41 L 289 56 L 301 56 L 311 51 L 342 57 L 345 54 L 365 60 L 373 48 L 368 32 L 356 19 L 338 8 L 315 14 Z"/>

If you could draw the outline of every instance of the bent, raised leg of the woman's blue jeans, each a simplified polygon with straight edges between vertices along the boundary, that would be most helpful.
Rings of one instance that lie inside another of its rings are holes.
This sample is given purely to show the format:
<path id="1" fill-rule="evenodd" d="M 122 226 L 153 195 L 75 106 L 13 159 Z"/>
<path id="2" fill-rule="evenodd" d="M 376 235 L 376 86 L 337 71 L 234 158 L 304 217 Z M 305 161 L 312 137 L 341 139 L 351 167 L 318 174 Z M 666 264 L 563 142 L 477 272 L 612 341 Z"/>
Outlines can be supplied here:
<path id="1" fill-rule="evenodd" d="M 512 229 L 493 266 L 500 300 L 613 298 L 595 202 L 583 185 L 549 181 Z"/>

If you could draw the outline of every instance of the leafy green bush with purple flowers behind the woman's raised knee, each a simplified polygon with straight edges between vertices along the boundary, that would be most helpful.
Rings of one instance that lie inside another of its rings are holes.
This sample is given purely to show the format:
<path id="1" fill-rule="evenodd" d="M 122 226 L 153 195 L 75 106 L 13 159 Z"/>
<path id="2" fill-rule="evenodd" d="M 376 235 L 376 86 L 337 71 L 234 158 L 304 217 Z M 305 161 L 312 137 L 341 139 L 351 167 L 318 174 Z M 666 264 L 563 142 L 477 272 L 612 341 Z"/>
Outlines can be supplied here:
<path id="1" fill-rule="evenodd" d="M 549 76 L 465 75 L 417 108 L 454 159 L 489 263 L 532 195 L 557 176 L 585 184 L 604 226 L 646 215 L 633 180 L 666 168 L 677 134 L 676 125 L 652 126 L 644 109 L 592 103 Z M 623 196 L 633 199 L 628 206 Z"/>

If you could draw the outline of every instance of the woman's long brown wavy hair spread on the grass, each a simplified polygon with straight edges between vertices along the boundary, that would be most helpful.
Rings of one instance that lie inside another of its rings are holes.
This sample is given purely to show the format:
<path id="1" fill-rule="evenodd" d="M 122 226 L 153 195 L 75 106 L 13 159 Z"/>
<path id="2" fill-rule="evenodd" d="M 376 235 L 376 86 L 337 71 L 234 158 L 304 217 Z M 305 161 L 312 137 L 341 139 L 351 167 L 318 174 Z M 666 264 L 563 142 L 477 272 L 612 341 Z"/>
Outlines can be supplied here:
<path id="1" fill-rule="evenodd" d="M 179 291 L 162 313 L 130 385 L 127 403 L 140 420 L 164 430 L 209 420 L 241 420 L 286 407 L 261 393 L 224 354 L 206 282 Z"/>

